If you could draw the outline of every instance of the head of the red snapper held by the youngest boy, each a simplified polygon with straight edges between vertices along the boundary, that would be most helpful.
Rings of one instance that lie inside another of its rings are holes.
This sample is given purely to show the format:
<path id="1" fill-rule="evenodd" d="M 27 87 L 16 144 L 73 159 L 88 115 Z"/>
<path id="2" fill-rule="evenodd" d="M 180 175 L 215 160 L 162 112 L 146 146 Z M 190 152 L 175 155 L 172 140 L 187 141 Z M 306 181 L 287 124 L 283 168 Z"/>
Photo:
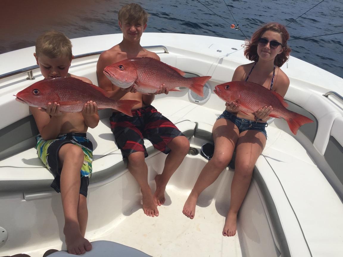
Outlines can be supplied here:
<path id="1" fill-rule="evenodd" d="M 18 92 L 15 96 L 17 101 L 33 107 L 46 108 L 49 102 L 59 102 L 59 96 L 47 82 L 49 79 L 38 81 L 31 86 Z"/>

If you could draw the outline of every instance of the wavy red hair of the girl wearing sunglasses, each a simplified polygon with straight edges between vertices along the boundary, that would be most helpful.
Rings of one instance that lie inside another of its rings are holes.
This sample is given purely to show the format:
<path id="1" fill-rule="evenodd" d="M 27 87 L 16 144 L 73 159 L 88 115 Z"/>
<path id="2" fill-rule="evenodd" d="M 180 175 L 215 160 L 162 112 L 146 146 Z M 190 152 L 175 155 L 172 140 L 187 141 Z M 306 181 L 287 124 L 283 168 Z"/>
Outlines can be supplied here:
<path id="1" fill-rule="evenodd" d="M 275 57 L 274 64 L 278 67 L 281 67 L 289 57 L 289 53 L 291 52 L 291 48 L 287 46 L 287 40 L 289 39 L 289 34 L 287 32 L 287 29 L 284 25 L 276 22 L 268 23 L 260 27 L 254 34 L 251 36 L 250 41 L 246 41 L 243 45 L 245 47 L 244 49 L 244 55 L 246 58 L 248 58 L 250 61 L 258 61 L 258 54 L 257 54 L 257 44 L 259 38 L 262 36 L 264 32 L 267 30 L 271 30 L 273 32 L 279 33 L 282 38 L 282 53 L 278 54 Z"/>

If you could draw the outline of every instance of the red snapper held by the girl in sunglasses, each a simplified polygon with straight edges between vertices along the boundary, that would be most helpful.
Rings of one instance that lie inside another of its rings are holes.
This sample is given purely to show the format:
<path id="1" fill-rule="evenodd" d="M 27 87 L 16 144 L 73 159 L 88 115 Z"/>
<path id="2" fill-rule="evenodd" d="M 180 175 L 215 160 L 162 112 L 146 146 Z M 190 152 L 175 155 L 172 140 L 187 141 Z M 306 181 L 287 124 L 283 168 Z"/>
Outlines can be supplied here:
<path id="1" fill-rule="evenodd" d="M 285 119 L 294 135 L 301 125 L 313 122 L 304 115 L 287 110 L 288 104 L 281 95 L 256 83 L 227 82 L 217 85 L 214 93 L 224 101 L 235 101 L 238 110 L 246 114 L 256 112 L 264 106 L 271 106 L 273 111 L 269 116 Z"/>

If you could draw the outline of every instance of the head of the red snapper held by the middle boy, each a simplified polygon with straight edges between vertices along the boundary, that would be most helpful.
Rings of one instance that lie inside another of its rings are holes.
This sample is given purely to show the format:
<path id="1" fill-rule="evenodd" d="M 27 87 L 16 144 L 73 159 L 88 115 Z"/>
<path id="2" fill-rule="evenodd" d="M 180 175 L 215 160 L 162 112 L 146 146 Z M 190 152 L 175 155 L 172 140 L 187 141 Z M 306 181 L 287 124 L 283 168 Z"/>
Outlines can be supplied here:
<path id="1" fill-rule="evenodd" d="M 105 76 L 116 86 L 128 88 L 137 80 L 137 69 L 129 59 L 116 62 L 104 69 Z"/>

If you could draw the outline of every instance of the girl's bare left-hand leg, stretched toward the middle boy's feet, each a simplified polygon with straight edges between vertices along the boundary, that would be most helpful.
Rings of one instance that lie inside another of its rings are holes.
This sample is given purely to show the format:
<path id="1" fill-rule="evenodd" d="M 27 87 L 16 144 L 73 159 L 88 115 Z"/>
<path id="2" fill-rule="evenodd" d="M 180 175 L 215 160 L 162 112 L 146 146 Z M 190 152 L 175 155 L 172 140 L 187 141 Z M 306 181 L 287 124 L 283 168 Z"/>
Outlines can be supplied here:
<path id="1" fill-rule="evenodd" d="M 197 200 L 202 191 L 211 185 L 226 168 L 232 158 L 238 139 L 238 128 L 229 120 L 219 119 L 213 125 L 214 154 L 202 169 L 192 192 L 188 196 L 182 213 L 194 218 Z"/>

